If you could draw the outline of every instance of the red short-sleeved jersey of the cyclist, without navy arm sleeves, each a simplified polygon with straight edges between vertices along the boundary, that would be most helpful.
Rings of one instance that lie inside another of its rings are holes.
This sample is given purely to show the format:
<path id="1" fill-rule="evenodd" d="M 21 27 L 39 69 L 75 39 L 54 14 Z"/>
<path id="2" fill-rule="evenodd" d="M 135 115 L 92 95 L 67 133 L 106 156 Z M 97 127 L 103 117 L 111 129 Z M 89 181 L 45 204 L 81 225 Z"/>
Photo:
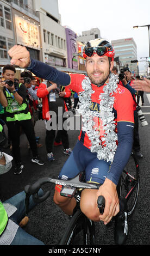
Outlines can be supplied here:
<path id="1" fill-rule="evenodd" d="M 82 81 L 84 80 L 85 75 L 80 74 L 70 74 L 71 82 L 67 86 L 68 88 L 72 89 L 74 92 L 82 92 Z M 91 107 L 90 111 L 99 112 L 99 94 L 103 93 L 103 88 L 105 85 L 101 87 L 97 87 L 95 84 L 92 85 L 92 90 L 95 92 L 91 96 Z M 118 122 L 127 122 L 127 123 L 134 123 L 133 117 L 133 98 L 126 88 L 120 86 L 118 84 L 118 88 L 116 89 L 116 93 L 112 95 L 115 97 L 113 112 L 116 121 L 116 132 L 117 132 L 117 123 Z M 99 130 L 99 137 L 104 135 L 104 126 L 102 120 L 99 117 L 94 117 L 95 127 L 93 129 Z M 91 147 L 91 141 L 87 136 L 86 132 L 80 131 L 79 141 L 81 141 L 85 147 Z"/>

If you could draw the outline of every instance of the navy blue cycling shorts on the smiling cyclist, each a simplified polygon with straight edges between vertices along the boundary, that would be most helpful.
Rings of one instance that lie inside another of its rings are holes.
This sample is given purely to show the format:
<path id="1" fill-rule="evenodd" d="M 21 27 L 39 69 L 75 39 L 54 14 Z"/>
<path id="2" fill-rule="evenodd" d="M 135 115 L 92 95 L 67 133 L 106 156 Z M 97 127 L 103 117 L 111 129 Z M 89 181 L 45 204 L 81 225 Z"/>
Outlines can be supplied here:
<path id="1" fill-rule="evenodd" d="M 111 162 L 98 160 L 97 153 L 91 153 L 82 142 L 78 141 L 71 155 L 65 162 L 59 174 L 59 179 L 67 180 L 85 171 L 85 182 L 103 184 Z M 58 186 L 55 188 L 60 191 Z"/>

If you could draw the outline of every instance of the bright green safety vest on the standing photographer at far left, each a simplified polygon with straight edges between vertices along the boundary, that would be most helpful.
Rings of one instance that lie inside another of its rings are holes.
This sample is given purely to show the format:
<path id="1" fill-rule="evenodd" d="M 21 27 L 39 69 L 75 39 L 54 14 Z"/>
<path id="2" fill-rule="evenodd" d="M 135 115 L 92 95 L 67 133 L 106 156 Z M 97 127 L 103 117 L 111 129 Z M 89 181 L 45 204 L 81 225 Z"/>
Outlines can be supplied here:
<path id="1" fill-rule="evenodd" d="M 19 84 L 19 87 L 21 84 Z M 22 120 L 28 120 L 31 119 L 31 115 L 27 106 L 27 103 L 24 102 L 21 105 L 18 104 L 18 102 L 15 100 L 13 93 L 8 93 L 7 90 L 5 90 L 8 106 L 5 107 L 5 117 L 6 121 L 22 121 Z M 16 102 L 18 105 L 18 109 L 15 111 L 12 111 L 11 104 L 12 102 Z"/>

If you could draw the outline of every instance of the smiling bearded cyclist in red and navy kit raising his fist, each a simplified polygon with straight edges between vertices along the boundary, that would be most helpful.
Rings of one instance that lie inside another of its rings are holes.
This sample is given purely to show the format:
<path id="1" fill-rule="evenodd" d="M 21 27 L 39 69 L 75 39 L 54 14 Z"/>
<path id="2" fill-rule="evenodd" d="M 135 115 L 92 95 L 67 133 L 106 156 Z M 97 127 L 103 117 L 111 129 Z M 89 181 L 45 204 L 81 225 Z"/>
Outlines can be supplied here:
<path id="1" fill-rule="evenodd" d="M 127 238 L 127 228 L 124 229 L 125 224 L 127 227 L 126 202 L 118 200 L 116 186 L 132 151 L 134 115 L 132 95 L 117 84 L 116 77 L 111 74 L 114 48 L 104 39 L 87 43 L 83 51 L 87 76 L 68 75 L 30 59 L 26 47 L 14 46 L 8 53 L 11 64 L 26 67 L 37 77 L 68 86 L 79 94 L 82 131 L 59 178 L 70 179 L 85 170 L 86 182 L 102 183 L 99 190 L 82 191 L 80 209 L 91 220 L 102 220 L 104 224 L 115 216 L 115 242 L 123 244 Z M 72 215 L 76 200 L 61 197 L 60 190 L 58 186 L 55 188 L 54 202 L 66 214 Z M 103 215 L 97 208 L 100 195 L 105 198 Z"/>

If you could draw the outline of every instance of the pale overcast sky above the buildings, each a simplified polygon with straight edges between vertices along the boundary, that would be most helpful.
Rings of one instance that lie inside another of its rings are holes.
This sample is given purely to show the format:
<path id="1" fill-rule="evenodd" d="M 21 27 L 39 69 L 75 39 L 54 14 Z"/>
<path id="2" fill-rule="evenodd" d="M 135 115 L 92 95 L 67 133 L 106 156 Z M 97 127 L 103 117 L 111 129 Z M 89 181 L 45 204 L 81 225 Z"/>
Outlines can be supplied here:
<path id="1" fill-rule="evenodd" d="M 108 40 L 134 38 L 137 59 L 149 57 L 148 27 L 150 0 L 58 0 L 61 25 L 69 26 L 77 34 L 99 28 L 102 38 Z M 139 62 L 139 70 L 146 62 Z"/>

